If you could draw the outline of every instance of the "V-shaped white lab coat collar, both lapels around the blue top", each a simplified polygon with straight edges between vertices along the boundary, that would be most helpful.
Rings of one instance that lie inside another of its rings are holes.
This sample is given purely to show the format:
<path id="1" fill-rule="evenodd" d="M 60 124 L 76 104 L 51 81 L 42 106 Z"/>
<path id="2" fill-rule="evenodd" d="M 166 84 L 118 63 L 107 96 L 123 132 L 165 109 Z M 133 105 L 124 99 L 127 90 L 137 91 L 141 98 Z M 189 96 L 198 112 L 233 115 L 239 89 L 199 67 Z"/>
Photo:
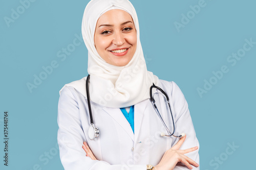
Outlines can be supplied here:
<path id="1" fill-rule="evenodd" d="M 103 110 L 107 112 L 125 130 L 133 141 L 137 141 L 140 133 L 143 114 L 148 103 L 150 103 L 149 99 L 146 99 L 134 106 L 134 133 L 131 125 L 124 117 L 120 108 L 103 107 Z"/>

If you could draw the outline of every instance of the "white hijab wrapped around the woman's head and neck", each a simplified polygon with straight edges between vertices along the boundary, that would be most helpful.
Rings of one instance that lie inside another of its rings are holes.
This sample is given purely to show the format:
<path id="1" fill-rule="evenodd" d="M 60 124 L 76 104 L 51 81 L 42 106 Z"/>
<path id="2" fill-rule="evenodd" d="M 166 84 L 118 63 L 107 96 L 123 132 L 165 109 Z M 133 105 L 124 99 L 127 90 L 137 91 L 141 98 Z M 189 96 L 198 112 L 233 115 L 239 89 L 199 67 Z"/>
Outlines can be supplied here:
<path id="1" fill-rule="evenodd" d="M 137 47 L 132 60 L 125 66 L 106 63 L 98 54 L 94 33 L 99 17 L 106 11 L 121 9 L 129 13 L 137 31 Z M 150 87 L 158 85 L 158 77 L 147 71 L 140 43 L 139 22 L 133 5 L 128 0 L 92 0 L 84 10 L 82 37 L 88 49 L 88 73 L 92 102 L 113 108 L 135 105 L 150 98 Z M 72 86 L 86 97 L 86 78 L 65 86 Z M 62 90 L 62 89 L 61 89 Z"/>

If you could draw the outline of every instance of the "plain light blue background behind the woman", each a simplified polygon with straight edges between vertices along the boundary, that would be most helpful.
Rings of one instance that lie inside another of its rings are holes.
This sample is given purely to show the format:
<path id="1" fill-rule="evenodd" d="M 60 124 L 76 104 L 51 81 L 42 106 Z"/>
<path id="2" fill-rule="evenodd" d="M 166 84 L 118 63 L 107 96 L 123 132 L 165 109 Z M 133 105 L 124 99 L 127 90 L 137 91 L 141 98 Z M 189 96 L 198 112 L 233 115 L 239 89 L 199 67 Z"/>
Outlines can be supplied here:
<path id="1" fill-rule="evenodd" d="M 22 11 L 20 1 L 2 1 L 0 127 L 8 111 L 10 139 L 6 167 L 1 130 L 1 169 L 30 170 L 36 164 L 63 169 L 56 152 L 58 91 L 87 76 L 88 51 L 82 42 L 66 59 L 57 53 L 80 36 L 88 2 L 35 1 Z M 256 44 L 234 66 L 227 58 L 243 48 L 245 39 L 256 41 L 255 1 L 206 0 L 195 16 L 189 6 L 198 5 L 198 0 L 131 2 L 139 17 L 148 70 L 175 81 L 188 102 L 201 147 L 201 169 L 253 169 Z M 11 18 L 17 8 L 21 14 L 8 27 L 5 17 Z M 182 14 L 191 19 L 177 29 L 175 22 L 182 23 Z M 31 92 L 27 83 L 33 84 L 34 75 L 54 60 L 58 67 Z M 201 98 L 197 88 L 204 88 L 204 80 L 214 80 L 212 71 L 223 65 L 229 71 Z M 226 157 L 228 143 L 239 148 Z M 216 157 L 223 161 L 217 163 Z"/>

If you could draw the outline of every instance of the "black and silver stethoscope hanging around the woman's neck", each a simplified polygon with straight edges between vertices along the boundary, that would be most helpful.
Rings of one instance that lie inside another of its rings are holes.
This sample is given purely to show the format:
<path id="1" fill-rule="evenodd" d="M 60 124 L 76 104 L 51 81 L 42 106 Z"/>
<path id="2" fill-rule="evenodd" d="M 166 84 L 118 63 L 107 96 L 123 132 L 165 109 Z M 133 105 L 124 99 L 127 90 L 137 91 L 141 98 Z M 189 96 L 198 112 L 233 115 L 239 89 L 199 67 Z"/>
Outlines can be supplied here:
<path id="1" fill-rule="evenodd" d="M 92 108 L 91 108 L 91 100 L 90 100 L 90 94 L 89 94 L 89 80 L 90 80 L 90 75 L 88 75 L 87 77 L 87 80 L 86 80 L 86 93 L 87 93 L 87 101 L 88 101 L 88 108 L 89 108 L 89 114 L 90 114 L 90 120 L 91 120 L 91 125 L 88 129 L 88 136 L 91 140 L 95 139 L 96 137 L 99 136 L 99 129 L 96 128 L 94 126 L 94 121 L 93 121 L 93 114 L 92 114 Z M 168 107 L 170 109 L 170 114 L 172 115 L 172 120 L 173 120 L 173 127 L 174 127 L 174 130 L 173 132 L 170 132 L 170 130 L 168 129 L 168 127 L 166 126 L 166 124 L 164 123 L 164 120 L 161 116 L 161 114 L 159 113 L 158 111 L 158 108 L 156 106 L 156 102 L 155 102 L 155 99 L 152 95 L 152 89 L 153 88 L 156 88 L 158 90 L 160 90 L 160 92 L 162 92 L 166 98 L 166 101 L 167 101 L 167 104 L 168 104 Z M 175 132 L 175 123 L 174 123 L 174 117 L 173 117 L 173 112 L 172 112 L 172 109 L 170 108 L 170 103 L 169 103 L 169 97 L 168 95 L 158 86 L 156 86 L 154 83 L 153 85 L 150 87 L 150 101 L 152 103 L 152 105 L 154 106 L 154 109 L 156 110 L 159 118 L 161 119 L 161 122 L 163 123 L 165 129 L 167 130 L 168 134 L 165 134 L 163 132 L 161 132 L 161 136 L 174 136 L 174 137 L 182 137 L 182 136 L 185 136 L 185 133 L 182 133 L 181 135 L 179 136 L 176 136 L 174 135 L 174 132 Z"/>

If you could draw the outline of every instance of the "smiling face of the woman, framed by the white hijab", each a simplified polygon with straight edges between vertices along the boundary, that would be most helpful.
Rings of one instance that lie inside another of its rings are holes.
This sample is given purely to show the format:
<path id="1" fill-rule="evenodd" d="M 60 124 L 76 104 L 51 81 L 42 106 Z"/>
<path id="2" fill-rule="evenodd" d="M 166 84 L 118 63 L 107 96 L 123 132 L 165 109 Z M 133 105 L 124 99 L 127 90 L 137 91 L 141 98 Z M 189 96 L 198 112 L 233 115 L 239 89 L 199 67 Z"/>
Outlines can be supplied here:
<path id="1" fill-rule="evenodd" d="M 133 58 L 137 34 L 131 15 L 123 10 L 105 12 L 97 21 L 94 43 L 100 57 L 115 66 L 125 66 Z"/>

